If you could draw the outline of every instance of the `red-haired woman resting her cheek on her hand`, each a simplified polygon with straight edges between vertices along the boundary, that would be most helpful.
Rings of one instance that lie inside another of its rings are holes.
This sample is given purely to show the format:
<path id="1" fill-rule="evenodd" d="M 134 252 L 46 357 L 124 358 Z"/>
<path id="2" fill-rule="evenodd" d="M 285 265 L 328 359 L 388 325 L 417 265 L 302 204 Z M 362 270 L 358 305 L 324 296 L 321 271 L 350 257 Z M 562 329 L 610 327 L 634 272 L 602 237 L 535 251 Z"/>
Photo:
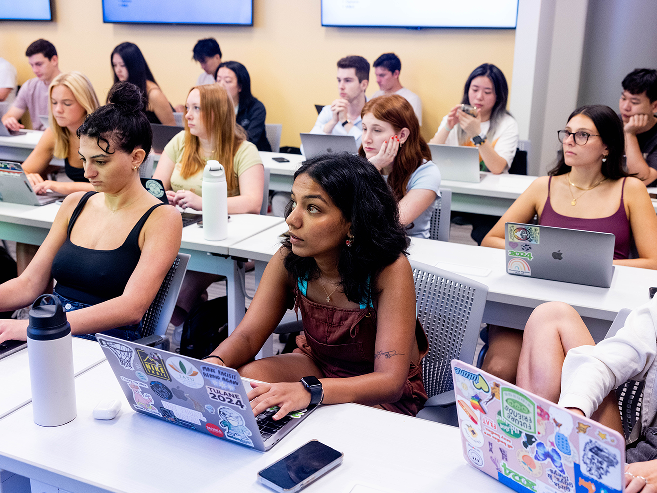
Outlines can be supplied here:
<path id="1" fill-rule="evenodd" d="M 388 181 L 407 235 L 428 238 L 434 202 L 440 195 L 440 170 L 431 162 L 413 106 L 396 94 L 379 96 L 365 103 L 361 118 L 359 154 Z"/>

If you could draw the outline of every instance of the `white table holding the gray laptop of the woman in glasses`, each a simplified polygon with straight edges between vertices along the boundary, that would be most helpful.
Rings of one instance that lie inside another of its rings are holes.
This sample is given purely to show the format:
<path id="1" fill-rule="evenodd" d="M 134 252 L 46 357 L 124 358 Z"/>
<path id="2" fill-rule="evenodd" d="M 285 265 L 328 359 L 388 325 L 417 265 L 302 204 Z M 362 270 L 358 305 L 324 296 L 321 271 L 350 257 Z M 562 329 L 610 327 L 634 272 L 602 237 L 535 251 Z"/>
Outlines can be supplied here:
<path id="1" fill-rule="evenodd" d="M 286 224 L 275 225 L 235 243 L 231 254 L 248 255 L 256 260 L 256 273 L 261 272 L 280 248 L 280 234 L 286 230 Z M 618 310 L 648 302 L 648 287 L 657 285 L 654 270 L 623 266 L 614 268 L 609 289 L 509 275 L 505 250 L 423 238 L 411 239 L 409 258 L 487 285 L 485 323 L 524 329 L 539 304 L 562 301 L 578 311 L 596 341 L 604 338 Z"/>

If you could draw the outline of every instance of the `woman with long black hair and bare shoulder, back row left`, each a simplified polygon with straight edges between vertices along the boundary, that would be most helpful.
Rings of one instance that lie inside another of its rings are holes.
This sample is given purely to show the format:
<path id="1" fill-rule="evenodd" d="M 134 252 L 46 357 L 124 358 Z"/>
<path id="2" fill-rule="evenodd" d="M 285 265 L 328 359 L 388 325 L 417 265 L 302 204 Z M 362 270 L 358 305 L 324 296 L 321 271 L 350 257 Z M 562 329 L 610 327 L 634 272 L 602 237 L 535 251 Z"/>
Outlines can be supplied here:
<path id="1" fill-rule="evenodd" d="M 114 83 L 129 82 L 139 87 L 142 95 L 148 101 L 146 116 L 150 123 L 175 125 L 173 108 L 155 82 L 141 50 L 134 43 L 121 43 L 110 56 Z"/>

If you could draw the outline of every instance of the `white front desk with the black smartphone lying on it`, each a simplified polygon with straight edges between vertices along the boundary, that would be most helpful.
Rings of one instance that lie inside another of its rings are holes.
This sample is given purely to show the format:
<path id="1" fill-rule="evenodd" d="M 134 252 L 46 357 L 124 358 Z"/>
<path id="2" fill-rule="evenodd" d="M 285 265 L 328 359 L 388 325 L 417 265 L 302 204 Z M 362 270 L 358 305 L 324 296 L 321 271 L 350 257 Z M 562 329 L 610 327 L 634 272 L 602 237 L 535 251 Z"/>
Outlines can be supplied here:
<path id="1" fill-rule="evenodd" d="M 265 493 L 258 471 L 317 438 L 344 462 L 309 493 L 348 493 L 355 484 L 390 493 L 510 491 L 466 463 L 459 428 L 367 406 L 320 408 L 262 453 L 135 413 L 107 362 L 78 377 L 76 393 L 78 417 L 66 425 L 36 425 L 32 406 L 1 420 L 0 467 L 70 492 Z M 121 399 L 120 413 L 93 419 L 108 396 Z"/>

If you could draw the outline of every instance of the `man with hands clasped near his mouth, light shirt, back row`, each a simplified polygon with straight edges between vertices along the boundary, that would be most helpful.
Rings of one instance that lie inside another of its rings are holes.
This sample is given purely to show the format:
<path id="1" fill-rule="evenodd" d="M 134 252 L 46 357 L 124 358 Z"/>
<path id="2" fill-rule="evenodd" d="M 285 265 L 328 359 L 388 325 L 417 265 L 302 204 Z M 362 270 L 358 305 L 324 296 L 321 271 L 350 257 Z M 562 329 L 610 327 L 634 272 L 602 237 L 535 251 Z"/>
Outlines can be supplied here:
<path id="1" fill-rule="evenodd" d="M 339 97 L 322 108 L 310 133 L 353 135 L 356 145 L 361 145 L 361 110 L 367 102 L 369 62 L 356 55 L 340 59 L 337 79 Z"/>

